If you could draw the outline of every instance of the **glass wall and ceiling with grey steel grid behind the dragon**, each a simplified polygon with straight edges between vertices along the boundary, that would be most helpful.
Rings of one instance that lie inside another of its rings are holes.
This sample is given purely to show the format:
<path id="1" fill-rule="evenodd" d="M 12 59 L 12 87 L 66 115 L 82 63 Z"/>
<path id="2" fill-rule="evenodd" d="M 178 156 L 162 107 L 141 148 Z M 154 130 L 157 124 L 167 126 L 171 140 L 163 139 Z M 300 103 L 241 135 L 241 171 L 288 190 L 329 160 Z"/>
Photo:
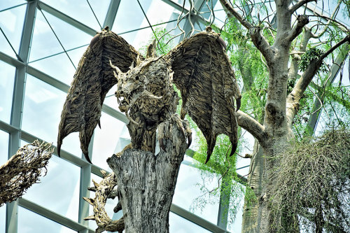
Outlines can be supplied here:
<path id="1" fill-rule="evenodd" d="M 66 92 L 96 31 L 108 25 L 139 50 L 148 45 L 152 29 L 176 27 L 182 5 L 182 0 L 1 0 L 0 164 L 19 146 L 35 139 L 56 145 Z M 209 8 L 204 0 L 194 1 L 194 6 L 201 16 L 195 29 L 203 30 L 205 20 L 210 20 Z M 222 27 L 225 11 L 216 0 L 213 7 L 214 24 Z M 189 1 L 185 8 L 188 12 Z M 340 20 L 349 24 L 349 19 Z M 181 27 L 186 29 L 186 25 L 188 17 L 181 21 Z M 179 29 L 172 34 L 179 34 Z M 174 45 L 180 40 L 180 36 L 174 39 Z M 111 171 L 106 159 L 130 143 L 127 121 L 118 111 L 113 92 L 105 100 L 102 129 L 95 129 L 90 144 L 93 165 L 83 160 L 78 133 L 67 136 L 62 158 L 52 157 L 41 183 L 29 188 L 22 199 L 0 207 L 0 232 L 94 232 L 96 224 L 83 220 L 92 209 L 82 197 L 93 197 L 87 191 L 91 178 L 99 181 L 100 169 Z M 244 135 L 246 141 L 253 141 L 250 134 Z M 251 148 L 248 143 L 241 153 L 251 153 Z M 249 160 L 239 159 L 237 167 L 249 164 Z M 222 221 L 218 199 L 190 212 L 193 200 L 202 195 L 197 185 L 203 182 L 201 172 L 186 155 L 173 201 L 183 211 L 170 213 L 170 232 L 241 232 L 241 213 L 235 223 L 218 227 Z M 239 173 L 248 174 L 248 167 Z M 217 178 L 211 183 L 218 183 Z M 113 209 L 113 203 L 107 205 Z"/>

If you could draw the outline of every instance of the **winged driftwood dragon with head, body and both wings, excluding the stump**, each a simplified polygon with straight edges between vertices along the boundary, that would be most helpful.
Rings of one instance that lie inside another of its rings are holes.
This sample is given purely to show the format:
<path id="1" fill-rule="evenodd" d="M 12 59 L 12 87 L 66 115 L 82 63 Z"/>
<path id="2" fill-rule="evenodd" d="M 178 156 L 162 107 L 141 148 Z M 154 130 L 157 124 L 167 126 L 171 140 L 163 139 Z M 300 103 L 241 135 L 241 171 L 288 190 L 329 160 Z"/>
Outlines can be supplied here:
<path id="1" fill-rule="evenodd" d="M 175 113 L 179 100 L 172 87 L 174 83 L 181 91 L 181 119 L 186 113 L 190 115 L 207 139 L 207 162 L 218 134 L 230 137 L 231 155 L 235 153 L 234 103 L 236 99 L 238 110 L 241 95 L 220 35 L 207 28 L 167 55 L 155 57 L 155 43 L 149 46 L 147 54 L 144 59 L 108 28 L 92 38 L 64 103 L 58 154 L 64 137 L 79 132 L 80 147 L 91 162 L 87 148 L 94 128 L 101 127 L 99 118 L 106 93 L 116 83 L 120 111 L 130 120 L 133 148 L 154 152 L 157 126 Z M 147 107 L 147 103 L 152 106 Z M 160 146 L 164 149 L 162 139 Z"/>

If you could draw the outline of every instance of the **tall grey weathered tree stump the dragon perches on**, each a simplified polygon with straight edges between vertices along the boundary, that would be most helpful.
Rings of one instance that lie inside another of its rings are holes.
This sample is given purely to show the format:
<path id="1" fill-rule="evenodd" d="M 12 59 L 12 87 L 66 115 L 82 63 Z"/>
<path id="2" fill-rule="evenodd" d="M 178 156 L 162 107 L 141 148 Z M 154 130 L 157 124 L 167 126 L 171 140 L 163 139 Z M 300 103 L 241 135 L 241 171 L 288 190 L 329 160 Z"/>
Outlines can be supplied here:
<path id="1" fill-rule="evenodd" d="M 158 155 L 129 149 L 113 155 L 109 167 L 116 174 L 125 232 L 169 232 L 172 204 L 180 164 L 187 149 L 188 122 L 174 115 L 160 125 L 167 152 Z"/>

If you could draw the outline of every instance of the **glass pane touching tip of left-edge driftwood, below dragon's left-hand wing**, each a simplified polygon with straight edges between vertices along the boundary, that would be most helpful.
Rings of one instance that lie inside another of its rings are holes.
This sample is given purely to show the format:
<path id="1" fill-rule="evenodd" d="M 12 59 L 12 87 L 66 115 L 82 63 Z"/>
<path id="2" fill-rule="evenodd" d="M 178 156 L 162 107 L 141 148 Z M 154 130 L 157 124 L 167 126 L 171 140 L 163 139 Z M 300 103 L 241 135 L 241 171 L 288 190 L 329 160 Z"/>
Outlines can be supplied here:
<path id="1" fill-rule="evenodd" d="M 29 188 L 23 198 L 78 221 L 80 167 L 52 155 L 48 174 Z"/>

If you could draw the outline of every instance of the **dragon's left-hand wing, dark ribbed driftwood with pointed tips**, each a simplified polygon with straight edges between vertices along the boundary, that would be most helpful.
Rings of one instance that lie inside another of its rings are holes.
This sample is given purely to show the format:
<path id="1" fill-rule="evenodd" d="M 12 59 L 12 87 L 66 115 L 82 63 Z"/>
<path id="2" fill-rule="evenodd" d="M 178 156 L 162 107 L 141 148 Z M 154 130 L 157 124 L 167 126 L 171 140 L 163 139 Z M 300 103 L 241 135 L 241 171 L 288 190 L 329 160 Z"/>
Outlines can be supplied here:
<path id="1" fill-rule="evenodd" d="M 104 98 L 118 82 L 110 61 L 126 72 L 132 62 L 136 64 L 138 56 L 137 50 L 108 28 L 92 38 L 80 59 L 64 102 L 57 138 L 58 155 L 64 137 L 79 132 L 80 148 L 91 163 L 87 148 L 94 128 L 99 124 Z"/>

